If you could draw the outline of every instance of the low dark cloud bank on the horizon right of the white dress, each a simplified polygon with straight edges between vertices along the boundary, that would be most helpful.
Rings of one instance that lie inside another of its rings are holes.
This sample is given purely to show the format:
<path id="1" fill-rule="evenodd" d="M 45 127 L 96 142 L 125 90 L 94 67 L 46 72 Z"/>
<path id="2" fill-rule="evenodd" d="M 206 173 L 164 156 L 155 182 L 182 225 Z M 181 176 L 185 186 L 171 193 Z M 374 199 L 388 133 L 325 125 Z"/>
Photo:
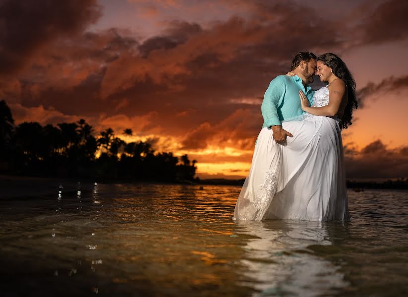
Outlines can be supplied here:
<path id="1" fill-rule="evenodd" d="M 377 140 L 360 151 L 345 149 L 346 176 L 355 178 L 408 177 L 408 147 L 388 149 Z"/>

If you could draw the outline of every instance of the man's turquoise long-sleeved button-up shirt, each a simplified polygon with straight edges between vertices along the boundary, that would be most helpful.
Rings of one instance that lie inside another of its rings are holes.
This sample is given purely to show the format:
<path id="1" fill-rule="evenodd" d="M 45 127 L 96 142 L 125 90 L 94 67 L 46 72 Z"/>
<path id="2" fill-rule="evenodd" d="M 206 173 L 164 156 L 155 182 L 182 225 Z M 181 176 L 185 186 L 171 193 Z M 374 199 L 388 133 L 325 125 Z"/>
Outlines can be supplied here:
<path id="1" fill-rule="evenodd" d="M 315 91 L 309 86 L 305 88 L 297 75 L 280 75 L 271 81 L 261 105 L 264 118 L 262 128 L 281 125 L 283 121 L 289 121 L 301 115 L 303 110 L 300 105 L 300 90 L 306 94 L 310 104 L 313 104 Z"/>

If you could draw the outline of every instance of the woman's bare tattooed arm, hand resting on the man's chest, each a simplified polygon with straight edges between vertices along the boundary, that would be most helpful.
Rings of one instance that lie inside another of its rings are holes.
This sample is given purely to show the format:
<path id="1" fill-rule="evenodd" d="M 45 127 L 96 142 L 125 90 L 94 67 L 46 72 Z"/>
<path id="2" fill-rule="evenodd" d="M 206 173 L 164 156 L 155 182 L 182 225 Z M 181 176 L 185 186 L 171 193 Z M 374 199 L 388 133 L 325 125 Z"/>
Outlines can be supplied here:
<path id="1" fill-rule="evenodd" d="M 314 115 L 335 116 L 339 113 L 345 91 L 346 84 L 343 80 L 336 79 L 333 81 L 329 87 L 329 104 L 322 107 L 309 107 L 309 100 L 302 91 L 299 91 L 302 110 Z"/>

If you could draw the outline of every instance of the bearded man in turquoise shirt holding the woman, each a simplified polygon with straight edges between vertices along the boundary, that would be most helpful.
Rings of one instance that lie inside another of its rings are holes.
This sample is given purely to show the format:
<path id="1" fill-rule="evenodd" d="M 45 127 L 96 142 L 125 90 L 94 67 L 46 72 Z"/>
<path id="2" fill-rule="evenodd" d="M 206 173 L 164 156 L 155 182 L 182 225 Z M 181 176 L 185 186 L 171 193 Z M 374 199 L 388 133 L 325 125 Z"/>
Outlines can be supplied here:
<path id="1" fill-rule="evenodd" d="M 262 128 L 272 129 L 274 140 L 280 145 L 286 143 L 287 136 L 293 137 L 282 128 L 282 121 L 303 113 L 299 91 L 303 91 L 312 103 L 314 91 L 308 84 L 313 82 L 316 73 L 316 55 L 308 51 L 296 53 L 291 63 L 291 72 L 295 75 L 279 75 L 269 84 L 261 105 L 264 118 Z"/>

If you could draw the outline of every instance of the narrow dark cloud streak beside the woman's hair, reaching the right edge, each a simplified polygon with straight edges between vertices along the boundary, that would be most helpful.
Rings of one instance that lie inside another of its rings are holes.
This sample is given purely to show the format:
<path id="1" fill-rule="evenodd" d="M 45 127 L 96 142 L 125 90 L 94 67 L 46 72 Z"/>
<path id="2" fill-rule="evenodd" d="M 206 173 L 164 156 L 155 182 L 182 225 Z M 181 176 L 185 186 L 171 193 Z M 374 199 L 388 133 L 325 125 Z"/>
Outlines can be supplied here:
<path id="1" fill-rule="evenodd" d="M 408 75 L 400 77 L 391 76 L 382 80 L 378 84 L 368 83 L 364 88 L 359 89 L 356 92 L 357 99 L 359 100 L 359 107 L 363 107 L 365 99 L 370 96 L 377 94 L 381 95 L 389 91 L 398 92 L 405 88 L 408 88 Z"/>

